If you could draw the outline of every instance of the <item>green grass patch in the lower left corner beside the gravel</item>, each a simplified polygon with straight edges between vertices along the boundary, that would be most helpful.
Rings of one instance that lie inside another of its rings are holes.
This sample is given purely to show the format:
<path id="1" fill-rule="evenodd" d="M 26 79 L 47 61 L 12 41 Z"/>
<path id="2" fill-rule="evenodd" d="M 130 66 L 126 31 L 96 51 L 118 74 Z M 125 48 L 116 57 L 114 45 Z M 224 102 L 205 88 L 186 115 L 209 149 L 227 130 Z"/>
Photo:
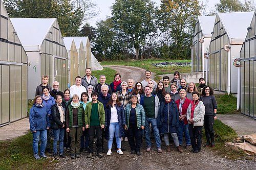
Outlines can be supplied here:
<path id="1" fill-rule="evenodd" d="M 0 141 L 0 170 L 4 169 L 45 169 L 51 168 L 51 158 L 35 160 L 32 150 L 32 133 L 11 141 Z"/>

